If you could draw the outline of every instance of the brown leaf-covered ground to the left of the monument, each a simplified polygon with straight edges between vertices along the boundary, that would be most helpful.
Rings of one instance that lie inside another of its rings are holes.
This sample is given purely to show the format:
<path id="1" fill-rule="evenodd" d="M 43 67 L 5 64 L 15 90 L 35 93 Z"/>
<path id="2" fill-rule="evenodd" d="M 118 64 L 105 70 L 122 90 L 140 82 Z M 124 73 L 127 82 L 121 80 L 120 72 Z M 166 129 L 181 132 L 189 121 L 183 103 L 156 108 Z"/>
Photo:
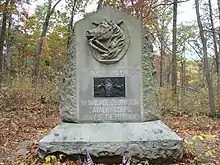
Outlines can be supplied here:
<path id="1" fill-rule="evenodd" d="M 4 95 L 0 106 L 0 163 L 35 162 L 32 158 L 37 158 L 37 142 L 60 122 L 58 105 L 42 103 L 41 97 Z"/>

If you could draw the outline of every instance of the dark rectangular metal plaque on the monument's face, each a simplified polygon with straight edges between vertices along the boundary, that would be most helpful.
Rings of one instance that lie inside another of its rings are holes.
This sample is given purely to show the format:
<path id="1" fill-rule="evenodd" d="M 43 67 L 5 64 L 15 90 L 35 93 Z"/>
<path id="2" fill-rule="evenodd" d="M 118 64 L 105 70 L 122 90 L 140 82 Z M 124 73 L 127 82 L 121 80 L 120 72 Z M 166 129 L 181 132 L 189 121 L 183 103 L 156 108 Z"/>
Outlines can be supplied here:
<path id="1" fill-rule="evenodd" d="M 94 78 L 94 97 L 125 97 L 125 77 Z"/>

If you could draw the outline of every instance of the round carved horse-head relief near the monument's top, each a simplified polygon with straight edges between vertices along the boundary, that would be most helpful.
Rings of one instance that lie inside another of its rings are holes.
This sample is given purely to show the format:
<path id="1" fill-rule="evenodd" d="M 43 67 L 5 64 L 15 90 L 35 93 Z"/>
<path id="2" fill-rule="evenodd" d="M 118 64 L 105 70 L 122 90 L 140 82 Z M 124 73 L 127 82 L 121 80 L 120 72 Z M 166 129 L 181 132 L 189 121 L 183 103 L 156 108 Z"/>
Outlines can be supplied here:
<path id="1" fill-rule="evenodd" d="M 121 60 L 130 42 L 128 30 L 122 20 L 93 22 L 94 28 L 87 30 L 86 37 L 93 57 L 105 64 Z"/>

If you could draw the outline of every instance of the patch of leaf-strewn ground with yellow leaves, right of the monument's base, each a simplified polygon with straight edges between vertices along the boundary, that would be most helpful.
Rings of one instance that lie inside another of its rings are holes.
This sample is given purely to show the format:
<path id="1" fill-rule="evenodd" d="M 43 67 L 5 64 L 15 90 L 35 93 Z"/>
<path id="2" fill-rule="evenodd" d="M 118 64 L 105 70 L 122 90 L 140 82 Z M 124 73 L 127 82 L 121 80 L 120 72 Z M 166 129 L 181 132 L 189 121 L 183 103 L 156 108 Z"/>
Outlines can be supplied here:
<path id="1" fill-rule="evenodd" d="M 185 150 L 183 163 L 191 165 L 220 164 L 220 119 L 207 116 L 174 117 L 166 115 L 163 117 L 163 121 L 184 139 L 185 147 L 195 147 L 195 153 Z M 213 138 L 206 139 L 206 136 Z M 212 153 L 209 154 L 211 151 Z"/>

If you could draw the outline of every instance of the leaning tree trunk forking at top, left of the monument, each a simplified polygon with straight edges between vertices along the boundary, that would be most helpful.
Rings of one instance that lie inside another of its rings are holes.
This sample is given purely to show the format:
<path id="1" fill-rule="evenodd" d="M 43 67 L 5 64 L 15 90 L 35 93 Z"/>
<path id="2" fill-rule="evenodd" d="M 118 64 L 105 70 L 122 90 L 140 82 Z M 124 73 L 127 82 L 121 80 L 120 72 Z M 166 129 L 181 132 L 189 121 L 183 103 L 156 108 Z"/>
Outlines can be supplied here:
<path id="1" fill-rule="evenodd" d="M 44 38 L 47 34 L 47 29 L 48 29 L 48 25 L 49 25 L 49 21 L 50 21 L 50 17 L 53 14 L 55 7 L 58 5 L 58 3 L 61 0 L 58 0 L 54 6 L 51 9 L 51 5 L 52 5 L 52 0 L 49 0 L 49 6 L 47 9 L 47 15 L 43 24 L 43 28 L 42 28 L 42 32 L 41 32 L 41 37 L 40 40 L 38 41 L 37 44 L 37 49 L 36 49 L 36 54 L 35 54 L 35 58 L 34 58 L 34 69 L 33 69 L 33 83 L 38 82 L 39 80 L 39 76 L 40 76 L 40 55 L 43 49 L 43 44 L 44 44 Z"/>

